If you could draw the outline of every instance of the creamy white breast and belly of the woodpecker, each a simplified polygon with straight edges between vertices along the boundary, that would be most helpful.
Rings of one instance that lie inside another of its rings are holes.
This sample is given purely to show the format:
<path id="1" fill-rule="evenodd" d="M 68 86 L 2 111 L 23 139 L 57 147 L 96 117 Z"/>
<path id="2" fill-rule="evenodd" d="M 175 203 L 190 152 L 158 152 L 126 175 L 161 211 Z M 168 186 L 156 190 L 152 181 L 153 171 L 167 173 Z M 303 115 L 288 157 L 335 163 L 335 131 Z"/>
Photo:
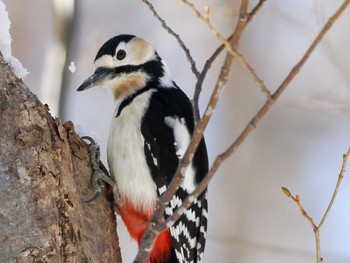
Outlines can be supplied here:
<path id="1" fill-rule="evenodd" d="M 119 194 L 136 209 L 152 209 L 157 200 L 156 185 L 144 154 L 141 119 L 148 108 L 152 91 L 137 96 L 111 123 L 108 139 L 108 164 Z M 116 190 L 116 189 L 115 189 Z"/>

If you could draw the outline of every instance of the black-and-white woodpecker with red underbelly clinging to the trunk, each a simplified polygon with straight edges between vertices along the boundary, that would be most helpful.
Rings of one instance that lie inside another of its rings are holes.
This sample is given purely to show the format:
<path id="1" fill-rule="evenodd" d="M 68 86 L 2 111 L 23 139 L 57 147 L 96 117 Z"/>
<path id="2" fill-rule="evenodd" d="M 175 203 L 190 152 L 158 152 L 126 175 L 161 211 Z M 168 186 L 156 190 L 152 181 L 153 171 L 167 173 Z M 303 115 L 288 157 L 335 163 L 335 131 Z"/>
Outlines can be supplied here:
<path id="1" fill-rule="evenodd" d="M 78 88 L 107 86 L 116 109 L 107 146 L 120 216 L 140 245 L 157 198 L 167 189 L 194 131 L 190 100 L 171 79 L 166 62 L 144 39 L 119 35 L 99 49 L 95 72 Z M 204 139 L 164 212 L 181 206 L 208 171 Z M 158 236 L 149 262 L 199 262 L 207 231 L 207 191 Z"/>

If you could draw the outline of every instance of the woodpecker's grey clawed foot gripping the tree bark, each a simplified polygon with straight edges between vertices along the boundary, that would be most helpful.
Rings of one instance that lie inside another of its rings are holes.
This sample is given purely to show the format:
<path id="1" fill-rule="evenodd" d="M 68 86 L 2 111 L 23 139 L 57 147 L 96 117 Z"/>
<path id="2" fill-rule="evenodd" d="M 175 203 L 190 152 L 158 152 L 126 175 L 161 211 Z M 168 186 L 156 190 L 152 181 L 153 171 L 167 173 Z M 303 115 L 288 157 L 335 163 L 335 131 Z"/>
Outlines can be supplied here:
<path id="1" fill-rule="evenodd" d="M 95 194 L 93 197 L 89 198 L 88 200 L 84 200 L 85 203 L 89 203 L 93 200 L 95 200 L 102 190 L 106 188 L 106 183 L 110 186 L 114 186 L 115 183 L 110 177 L 106 167 L 103 165 L 103 163 L 100 160 L 101 157 L 101 151 L 100 147 L 96 144 L 94 139 L 92 139 L 89 136 L 83 136 L 81 137 L 84 140 L 88 140 L 90 142 L 89 144 L 89 150 L 90 150 L 90 161 L 91 166 L 93 170 L 93 174 L 91 177 L 91 186 L 95 191 Z"/>

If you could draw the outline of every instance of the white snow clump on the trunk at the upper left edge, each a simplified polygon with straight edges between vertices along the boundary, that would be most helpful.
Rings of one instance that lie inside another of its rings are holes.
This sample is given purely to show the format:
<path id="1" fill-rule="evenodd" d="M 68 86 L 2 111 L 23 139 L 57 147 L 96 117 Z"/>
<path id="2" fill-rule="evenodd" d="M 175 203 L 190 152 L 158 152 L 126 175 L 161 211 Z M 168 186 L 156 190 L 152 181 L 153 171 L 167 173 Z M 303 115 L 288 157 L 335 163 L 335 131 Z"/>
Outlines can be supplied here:
<path id="1" fill-rule="evenodd" d="M 4 56 L 5 61 L 12 67 L 16 76 L 23 79 L 29 72 L 17 58 L 12 56 L 10 24 L 6 6 L 0 0 L 0 52 Z"/>

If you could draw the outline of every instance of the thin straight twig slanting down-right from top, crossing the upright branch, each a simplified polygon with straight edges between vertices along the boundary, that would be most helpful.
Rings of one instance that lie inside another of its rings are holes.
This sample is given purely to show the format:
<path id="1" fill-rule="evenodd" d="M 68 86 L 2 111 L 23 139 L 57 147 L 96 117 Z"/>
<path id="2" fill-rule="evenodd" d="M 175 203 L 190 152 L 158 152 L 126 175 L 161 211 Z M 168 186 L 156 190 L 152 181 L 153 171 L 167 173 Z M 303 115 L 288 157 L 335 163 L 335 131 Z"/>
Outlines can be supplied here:
<path id="1" fill-rule="evenodd" d="M 256 83 L 258 83 L 261 91 L 265 93 L 266 98 L 269 100 L 271 98 L 271 92 L 268 90 L 268 88 L 265 86 L 264 81 L 256 74 L 254 68 L 246 61 L 246 59 L 243 57 L 242 54 L 240 54 L 236 49 L 234 49 L 230 42 L 222 36 L 213 26 L 213 24 L 210 22 L 209 17 L 203 16 L 198 9 L 187 0 L 181 0 L 186 6 L 188 6 L 192 12 L 200 19 L 202 20 L 208 28 L 214 33 L 214 35 L 225 45 L 227 50 L 231 53 L 232 56 L 236 57 L 238 61 L 242 64 L 242 66 L 248 70 L 248 72 L 253 76 Z M 245 14 L 244 17 L 240 17 L 240 19 L 246 20 L 247 24 L 247 14 Z"/>

